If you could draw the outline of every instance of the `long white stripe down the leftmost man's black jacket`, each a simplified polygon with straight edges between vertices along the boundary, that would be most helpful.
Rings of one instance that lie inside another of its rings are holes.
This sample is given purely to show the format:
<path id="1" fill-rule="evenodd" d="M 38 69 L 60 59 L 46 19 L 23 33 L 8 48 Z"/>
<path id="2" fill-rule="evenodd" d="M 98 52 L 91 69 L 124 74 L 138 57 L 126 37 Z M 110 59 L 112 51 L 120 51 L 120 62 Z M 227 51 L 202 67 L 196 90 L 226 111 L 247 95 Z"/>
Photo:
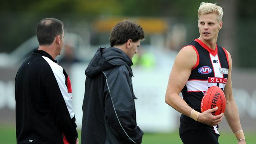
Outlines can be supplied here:
<path id="1" fill-rule="evenodd" d="M 54 76 L 58 83 L 59 89 L 60 89 L 63 99 L 66 103 L 67 109 L 69 110 L 70 118 L 73 118 L 74 111 L 72 108 L 72 98 L 68 93 L 67 86 L 65 85 L 65 76 L 63 74 L 63 68 L 61 66 L 59 66 L 57 63 L 54 63 L 48 57 L 43 56 L 43 58 L 52 68 L 52 72 L 54 73 Z"/>

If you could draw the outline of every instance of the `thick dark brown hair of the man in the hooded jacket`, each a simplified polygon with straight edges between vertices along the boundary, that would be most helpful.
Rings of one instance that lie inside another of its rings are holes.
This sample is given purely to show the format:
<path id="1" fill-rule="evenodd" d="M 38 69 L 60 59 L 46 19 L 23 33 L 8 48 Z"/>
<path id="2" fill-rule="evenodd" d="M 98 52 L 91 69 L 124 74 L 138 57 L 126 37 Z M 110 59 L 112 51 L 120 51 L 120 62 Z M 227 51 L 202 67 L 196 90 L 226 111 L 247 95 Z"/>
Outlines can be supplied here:
<path id="1" fill-rule="evenodd" d="M 126 43 L 129 39 L 137 42 L 145 38 L 145 33 L 142 27 L 130 20 L 123 20 L 116 24 L 110 33 L 110 46 L 121 45 Z"/>

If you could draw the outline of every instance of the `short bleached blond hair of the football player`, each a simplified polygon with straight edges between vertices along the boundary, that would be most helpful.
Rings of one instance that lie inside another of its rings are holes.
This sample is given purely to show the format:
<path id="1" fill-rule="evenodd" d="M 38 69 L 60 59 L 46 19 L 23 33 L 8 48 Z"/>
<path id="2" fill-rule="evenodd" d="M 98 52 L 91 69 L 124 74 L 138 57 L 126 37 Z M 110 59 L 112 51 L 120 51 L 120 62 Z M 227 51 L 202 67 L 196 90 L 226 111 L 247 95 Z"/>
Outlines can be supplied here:
<path id="1" fill-rule="evenodd" d="M 210 13 L 215 13 L 217 15 L 218 22 L 221 22 L 223 17 L 223 9 L 220 6 L 217 6 L 216 3 L 208 3 L 208 2 L 201 2 L 200 7 L 198 9 L 198 19 L 200 15 L 206 15 Z"/>

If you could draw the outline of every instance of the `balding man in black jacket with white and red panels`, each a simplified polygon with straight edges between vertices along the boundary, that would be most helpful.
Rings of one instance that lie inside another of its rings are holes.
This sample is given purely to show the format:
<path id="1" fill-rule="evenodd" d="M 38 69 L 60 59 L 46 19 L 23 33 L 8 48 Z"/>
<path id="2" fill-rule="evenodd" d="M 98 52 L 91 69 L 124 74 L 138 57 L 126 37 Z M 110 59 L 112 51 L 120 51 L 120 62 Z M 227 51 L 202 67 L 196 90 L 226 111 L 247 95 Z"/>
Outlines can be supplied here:
<path id="1" fill-rule="evenodd" d="M 54 60 L 63 46 L 63 27 L 55 18 L 41 20 L 39 48 L 17 72 L 17 144 L 78 144 L 70 79 Z"/>

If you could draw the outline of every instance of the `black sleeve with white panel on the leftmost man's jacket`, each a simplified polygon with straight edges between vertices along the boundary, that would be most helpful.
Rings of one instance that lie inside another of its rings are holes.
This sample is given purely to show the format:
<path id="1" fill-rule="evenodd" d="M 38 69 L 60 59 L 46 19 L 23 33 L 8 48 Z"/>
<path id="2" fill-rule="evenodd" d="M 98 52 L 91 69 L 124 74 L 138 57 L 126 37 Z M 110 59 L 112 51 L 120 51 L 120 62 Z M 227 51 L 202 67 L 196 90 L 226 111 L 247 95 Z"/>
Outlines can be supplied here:
<path id="1" fill-rule="evenodd" d="M 70 144 L 75 144 L 78 133 L 72 108 L 71 93 L 68 92 L 63 68 L 59 65 L 44 66 L 42 85 L 50 100 L 58 127 Z M 69 79 L 68 79 L 69 80 Z"/>

